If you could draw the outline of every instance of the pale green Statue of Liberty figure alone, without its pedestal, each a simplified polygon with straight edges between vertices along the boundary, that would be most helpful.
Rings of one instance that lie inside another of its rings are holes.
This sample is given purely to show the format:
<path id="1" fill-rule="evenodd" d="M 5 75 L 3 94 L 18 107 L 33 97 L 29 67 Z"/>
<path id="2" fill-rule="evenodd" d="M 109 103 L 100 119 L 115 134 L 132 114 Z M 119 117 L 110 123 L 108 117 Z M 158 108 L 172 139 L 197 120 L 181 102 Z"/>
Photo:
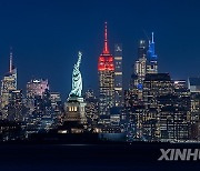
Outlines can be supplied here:
<path id="1" fill-rule="evenodd" d="M 82 91 L 82 77 L 81 77 L 81 72 L 79 70 L 80 68 L 80 63 L 81 63 L 81 57 L 82 53 L 79 51 L 78 53 L 78 61 L 77 63 L 73 66 L 73 72 L 72 72 L 72 90 L 69 94 L 69 97 L 81 97 L 81 91 Z"/>

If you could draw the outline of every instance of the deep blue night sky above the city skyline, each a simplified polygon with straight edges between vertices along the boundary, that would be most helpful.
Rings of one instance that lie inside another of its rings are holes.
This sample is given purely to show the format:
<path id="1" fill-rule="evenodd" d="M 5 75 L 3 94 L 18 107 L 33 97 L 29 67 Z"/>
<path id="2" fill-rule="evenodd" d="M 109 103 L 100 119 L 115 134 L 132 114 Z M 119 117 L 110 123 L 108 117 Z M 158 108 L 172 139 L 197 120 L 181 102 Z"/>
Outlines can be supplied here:
<path id="1" fill-rule="evenodd" d="M 200 74 L 199 0 L 1 0 L 0 76 L 8 71 L 13 48 L 18 88 L 32 78 L 49 79 L 66 99 L 79 50 L 83 53 L 83 89 L 97 90 L 97 61 L 108 22 L 109 46 L 123 44 L 128 86 L 140 39 L 154 32 L 159 71 L 172 79 Z"/>

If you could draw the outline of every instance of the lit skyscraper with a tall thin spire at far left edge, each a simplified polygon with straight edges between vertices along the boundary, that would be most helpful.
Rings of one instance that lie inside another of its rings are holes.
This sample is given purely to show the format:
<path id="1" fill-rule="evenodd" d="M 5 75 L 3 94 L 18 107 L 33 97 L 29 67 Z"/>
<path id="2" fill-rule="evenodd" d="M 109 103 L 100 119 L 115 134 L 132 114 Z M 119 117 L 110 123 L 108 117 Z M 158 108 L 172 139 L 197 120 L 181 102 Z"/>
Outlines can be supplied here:
<path id="1" fill-rule="evenodd" d="M 1 80 L 1 111 L 2 119 L 8 117 L 8 104 L 11 91 L 17 90 L 17 68 L 12 62 L 12 51 L 10 51 L 9 72 Z"/>

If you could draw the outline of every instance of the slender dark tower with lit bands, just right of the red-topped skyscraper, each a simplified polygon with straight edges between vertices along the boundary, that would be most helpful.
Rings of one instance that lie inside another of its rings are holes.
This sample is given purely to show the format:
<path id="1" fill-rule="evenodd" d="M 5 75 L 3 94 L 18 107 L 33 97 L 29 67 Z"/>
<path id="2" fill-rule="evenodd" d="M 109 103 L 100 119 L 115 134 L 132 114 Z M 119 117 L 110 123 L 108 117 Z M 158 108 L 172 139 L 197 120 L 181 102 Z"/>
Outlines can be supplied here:
<path id="1" fill-rule="evenodd" d="M 122 107 L 122 44 L 114 44 L 114 105 Z"/>

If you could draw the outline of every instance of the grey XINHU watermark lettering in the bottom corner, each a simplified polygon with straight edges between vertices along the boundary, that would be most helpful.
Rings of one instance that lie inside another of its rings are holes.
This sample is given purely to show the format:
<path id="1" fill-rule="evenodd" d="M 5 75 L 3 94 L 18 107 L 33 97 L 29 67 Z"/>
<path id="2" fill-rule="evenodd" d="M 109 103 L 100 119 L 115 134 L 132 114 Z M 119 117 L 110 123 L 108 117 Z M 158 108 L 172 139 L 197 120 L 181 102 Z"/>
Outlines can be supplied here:
<path id="1" fill-rule="evenodd" d="M 159 161 L 197 161 L 200 160 L 200 149 L 160 149 Z"/>

